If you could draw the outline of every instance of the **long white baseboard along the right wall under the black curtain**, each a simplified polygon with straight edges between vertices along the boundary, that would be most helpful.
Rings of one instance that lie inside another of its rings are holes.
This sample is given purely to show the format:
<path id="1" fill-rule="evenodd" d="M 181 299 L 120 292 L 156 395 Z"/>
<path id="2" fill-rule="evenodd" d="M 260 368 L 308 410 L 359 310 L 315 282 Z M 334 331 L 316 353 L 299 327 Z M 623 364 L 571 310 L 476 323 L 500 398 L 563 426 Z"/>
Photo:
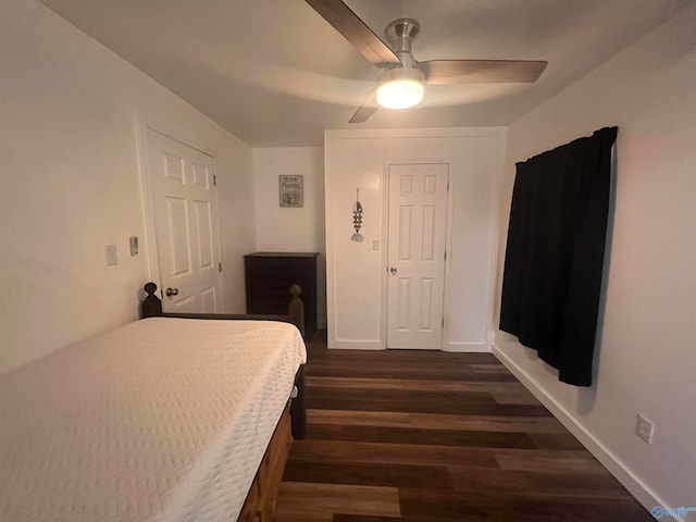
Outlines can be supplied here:
<path id="1" fill-rule="evenodd" d="M 589 433 L 577 420 L 561 406 L 554 397 L 548 395 L 538 383 L 529 376 L 512 359 L 510 359 L 497 346 L 492 348 L 493 355 L 520 380 L 520 382 L 560 421 L 585 448 L 607 468 L 631 495 L 643 505 L 648 512 L 656 506 L 666 510 L 670 508 L 659 496 L 643 483 L 626 465 L 607 449 L 592 433 Z M 683 517 L 673 517 L 669 520 L 685 522 Z"/>

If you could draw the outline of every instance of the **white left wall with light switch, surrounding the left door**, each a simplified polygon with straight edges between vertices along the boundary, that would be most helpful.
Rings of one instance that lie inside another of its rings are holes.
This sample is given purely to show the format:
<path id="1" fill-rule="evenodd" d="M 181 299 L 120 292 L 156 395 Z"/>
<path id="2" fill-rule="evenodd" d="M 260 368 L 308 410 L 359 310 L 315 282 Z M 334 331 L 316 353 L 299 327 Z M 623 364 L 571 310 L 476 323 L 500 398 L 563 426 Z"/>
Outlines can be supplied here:
<path id="1" fill-rule="evenodd" d="M 137 319 L 137 120 L 216 151 L 225 308 L 243 311 L 251 149 L 35 0 L 0 2 L 0 372 Z"/>

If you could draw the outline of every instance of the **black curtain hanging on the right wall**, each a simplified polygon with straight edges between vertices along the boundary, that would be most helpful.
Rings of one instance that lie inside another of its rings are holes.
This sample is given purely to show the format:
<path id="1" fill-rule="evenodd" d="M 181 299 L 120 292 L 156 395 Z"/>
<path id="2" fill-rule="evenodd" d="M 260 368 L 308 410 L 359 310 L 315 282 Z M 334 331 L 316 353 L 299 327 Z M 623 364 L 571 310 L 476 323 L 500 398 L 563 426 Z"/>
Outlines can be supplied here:
<path id="1" fill-rule="evenodd" d="M 500 330 L 592 385 L 617 127 L 517 164 Z"/>

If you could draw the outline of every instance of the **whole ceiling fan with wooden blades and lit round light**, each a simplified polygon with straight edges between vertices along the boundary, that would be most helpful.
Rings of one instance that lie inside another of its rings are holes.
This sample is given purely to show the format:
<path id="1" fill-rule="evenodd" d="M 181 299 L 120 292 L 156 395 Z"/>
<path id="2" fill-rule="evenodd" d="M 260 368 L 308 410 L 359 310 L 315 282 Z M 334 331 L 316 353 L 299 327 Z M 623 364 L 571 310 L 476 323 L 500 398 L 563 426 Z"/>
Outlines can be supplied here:
<path id="1" fill-rule="evenodd" d="M 349 123 L 366 121 L 378 107 L 407 109 L 423 99 L 425 84 L 517 84 L 532 83 L 547 62 L 529 60 L 428 60 L 419 62 L 411 53 L 420 25 L 412 18 L 391 22 L 387 46 L 341 0 L 306 0 L 358 51 L 383 72 L 375 89 L 362 102 Z"/>

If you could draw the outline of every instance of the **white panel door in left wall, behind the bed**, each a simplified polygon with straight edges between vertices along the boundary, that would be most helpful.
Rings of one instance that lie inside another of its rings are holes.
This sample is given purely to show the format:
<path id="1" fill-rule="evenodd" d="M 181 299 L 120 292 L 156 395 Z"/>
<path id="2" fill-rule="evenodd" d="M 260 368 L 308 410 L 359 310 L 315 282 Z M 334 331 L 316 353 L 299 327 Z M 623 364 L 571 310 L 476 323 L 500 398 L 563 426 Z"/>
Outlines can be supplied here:
<path id="1" fill-rule="evenodd" d="M 148 129 L 157 258 L 165 312 L 217 312 L 222 303 L 213 159 Z"/>

